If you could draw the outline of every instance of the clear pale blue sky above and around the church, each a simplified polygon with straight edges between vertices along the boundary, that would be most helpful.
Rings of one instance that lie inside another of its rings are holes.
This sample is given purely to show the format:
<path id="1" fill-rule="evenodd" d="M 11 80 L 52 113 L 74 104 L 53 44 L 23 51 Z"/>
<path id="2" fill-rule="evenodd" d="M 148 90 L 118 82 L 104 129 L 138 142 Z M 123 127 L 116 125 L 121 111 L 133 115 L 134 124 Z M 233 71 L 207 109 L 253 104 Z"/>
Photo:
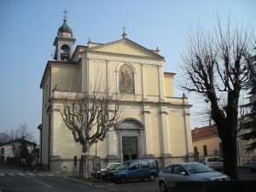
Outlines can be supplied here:
<path id="1" fill-rule="evenodd" d="M 108 43 L 127 38 L 148 49 L 160 49 L 164 71 L 177 73 L 179 52 L 190 29 L 200 23 L 216 26 L 217 15 L 233 23 L 256 26 L 255 0 L 1 0 L 0 1 L 0 132 L 26 123 L 38 139 L 42 123 L 42 90 L 39 85 L 58 28 L 73 29 L 76 45 L 88 39 Z M 178 74 L 177 74 L 178 75 Z M 183 92 L 175 88 L 174 96 Z M 191 129 L 202 126 L 194 115 L 199 102 L 189 97 Z"/>

